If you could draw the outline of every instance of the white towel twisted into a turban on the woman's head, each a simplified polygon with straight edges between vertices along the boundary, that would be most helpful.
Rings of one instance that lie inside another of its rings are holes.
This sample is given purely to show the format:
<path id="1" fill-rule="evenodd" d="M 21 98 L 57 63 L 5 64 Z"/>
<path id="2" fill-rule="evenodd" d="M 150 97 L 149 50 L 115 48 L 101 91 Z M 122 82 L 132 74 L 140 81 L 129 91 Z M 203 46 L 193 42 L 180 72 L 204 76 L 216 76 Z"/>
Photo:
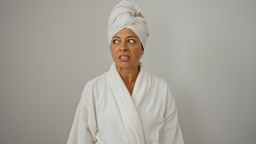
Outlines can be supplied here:
<path id="1" fill-rule="evenodd" d="M 142 46 L 146 47 L 149 36 L 147 21 L 141 14 L 141 8 L 132 1 L 121 1 L 111 11 L 108 19 L 108 42 L 111 43 L 112 37 L 123 28 L 130 28 L 139 40 Z"/>

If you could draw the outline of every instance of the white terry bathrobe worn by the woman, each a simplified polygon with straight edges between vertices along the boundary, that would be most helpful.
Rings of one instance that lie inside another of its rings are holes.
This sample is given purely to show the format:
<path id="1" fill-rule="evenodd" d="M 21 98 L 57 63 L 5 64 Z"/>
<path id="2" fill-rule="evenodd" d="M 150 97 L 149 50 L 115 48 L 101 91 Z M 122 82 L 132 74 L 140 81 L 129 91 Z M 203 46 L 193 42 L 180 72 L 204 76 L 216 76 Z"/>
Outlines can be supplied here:
<path id="1" fill-rule="evenodd" d="M 184 142 L 165 80 L 140 64 L 130 95 L 113 63 L 85 85 L 67 143 Z"/>

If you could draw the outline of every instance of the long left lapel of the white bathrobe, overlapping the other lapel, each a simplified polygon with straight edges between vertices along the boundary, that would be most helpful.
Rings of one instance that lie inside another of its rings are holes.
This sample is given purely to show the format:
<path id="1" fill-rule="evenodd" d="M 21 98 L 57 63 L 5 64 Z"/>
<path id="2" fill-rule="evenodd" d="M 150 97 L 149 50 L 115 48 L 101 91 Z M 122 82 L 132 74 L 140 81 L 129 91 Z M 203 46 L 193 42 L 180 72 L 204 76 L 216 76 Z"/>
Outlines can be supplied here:
<path id="1" fill-rule="evenodd" d="M 142 130 L 141 121 L 135 104 L 133 103 L 132 97 L 129 94 L 128 89 L 124 85 L 120 74 L 115 68 L 115 63 L 111 65 L 109 70 L 109 82 L 112 90 L 114 91 L 114 97 L 118 104 L 118 109 L 120 110 L 121 117 L 124 122 L 124 126 L 130 137 L 132 143 L 144 144 L 144 133 Z M 136 85 L 136 83 L 135 83 Z M 141 93 L 136 90 L 136 93 Z M 141 96 L 143 98 L 144 96 Z M 136 99 L 136 101 L 139 101 Z M 138 103 L 138 102 L 136 102 Z"/>

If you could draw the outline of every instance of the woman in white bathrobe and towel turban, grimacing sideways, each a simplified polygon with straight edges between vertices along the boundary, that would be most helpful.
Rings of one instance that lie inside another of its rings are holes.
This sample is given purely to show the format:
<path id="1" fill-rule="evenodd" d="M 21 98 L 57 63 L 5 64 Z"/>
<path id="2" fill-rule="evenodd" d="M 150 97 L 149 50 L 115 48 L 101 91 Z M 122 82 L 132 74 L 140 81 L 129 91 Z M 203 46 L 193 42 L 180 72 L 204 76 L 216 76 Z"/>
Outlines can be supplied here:
<path id="1" fill-rule="evenodd" d="M 114 63 L 85 85 L 67 143 L 184 143 L 168 84 L 139 62 L 149 35 L 141 8 L 121 1 L 108 24 Z"/>

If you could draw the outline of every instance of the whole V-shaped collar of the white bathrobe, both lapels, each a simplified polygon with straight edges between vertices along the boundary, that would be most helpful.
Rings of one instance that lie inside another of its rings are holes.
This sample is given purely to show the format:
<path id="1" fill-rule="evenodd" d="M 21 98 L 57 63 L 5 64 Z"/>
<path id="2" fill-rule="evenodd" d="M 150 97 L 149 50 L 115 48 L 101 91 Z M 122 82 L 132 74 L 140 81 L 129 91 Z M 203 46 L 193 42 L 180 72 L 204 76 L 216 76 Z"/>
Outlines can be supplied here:
<path id="1" fill-rule="evenodd" d="M 109 69 L 109 82 L 114 91 L 114 97 L 118 104 L 124 126 L 132 143 L 144 144 L 144 132 L 141 125 L 141 120 L 138 115 L 138 107 L 146 97 L 150 86 L 151 76 L 144 65 L 139 64 L 140 71 L 137 76 L 132 95 L 130 95 L 126 85 L 121 79 L 120 74 L 115 67 L 115 63 Z"/>

